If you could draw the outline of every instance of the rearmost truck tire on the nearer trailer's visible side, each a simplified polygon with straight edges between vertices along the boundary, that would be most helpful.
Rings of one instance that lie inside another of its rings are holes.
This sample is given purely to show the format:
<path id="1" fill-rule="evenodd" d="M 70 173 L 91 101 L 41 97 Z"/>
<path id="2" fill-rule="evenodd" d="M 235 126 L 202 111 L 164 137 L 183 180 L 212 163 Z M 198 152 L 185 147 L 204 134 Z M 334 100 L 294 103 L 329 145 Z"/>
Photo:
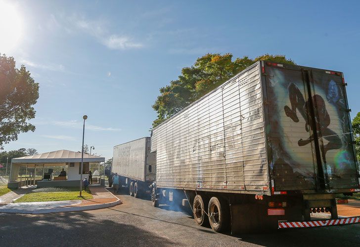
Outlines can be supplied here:
<path id="1" fill-rule="evenodd" d="M 225 200 L 212 197 L 208 207 L 209 222 L 215 232 L 224 232 L 230 224 L 230 214 Z"/>

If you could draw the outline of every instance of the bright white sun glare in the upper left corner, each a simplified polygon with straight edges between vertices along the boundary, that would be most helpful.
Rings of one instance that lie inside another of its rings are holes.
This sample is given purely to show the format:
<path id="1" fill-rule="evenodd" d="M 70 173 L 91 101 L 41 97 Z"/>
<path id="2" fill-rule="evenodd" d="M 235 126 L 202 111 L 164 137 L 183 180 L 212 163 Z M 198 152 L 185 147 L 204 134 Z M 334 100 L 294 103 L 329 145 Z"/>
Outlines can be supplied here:
<path id="1" fill-rule="evenodd" d="M 6 53 L 18 44 L 22 34 L 22 21 L 16 7 L 0 1 L 0 53 Z"/>

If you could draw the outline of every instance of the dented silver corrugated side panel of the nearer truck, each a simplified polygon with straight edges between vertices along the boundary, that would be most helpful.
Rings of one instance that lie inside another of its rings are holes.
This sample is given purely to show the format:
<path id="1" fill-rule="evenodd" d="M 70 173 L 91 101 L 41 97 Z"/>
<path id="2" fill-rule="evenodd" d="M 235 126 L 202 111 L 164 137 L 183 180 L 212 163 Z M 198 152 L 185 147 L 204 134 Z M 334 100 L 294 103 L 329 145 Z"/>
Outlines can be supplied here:
<path id="1" fill-rule="evenodd" d="M 257 63 L 153 130 L 157 186 L 262 191 L 265 147 Z"/>

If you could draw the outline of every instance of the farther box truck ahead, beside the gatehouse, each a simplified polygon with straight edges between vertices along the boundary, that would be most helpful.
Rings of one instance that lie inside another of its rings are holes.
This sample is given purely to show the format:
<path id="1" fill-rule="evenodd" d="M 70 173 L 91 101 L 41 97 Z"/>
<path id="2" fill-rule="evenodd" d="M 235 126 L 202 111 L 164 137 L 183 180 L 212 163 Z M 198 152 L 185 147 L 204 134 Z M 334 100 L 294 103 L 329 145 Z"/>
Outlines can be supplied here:
<path id="1" fill-rule="evenodd" d="M 155 157 L 150 153 L 150 137 L 143 137 L 114 147 L 112 174 L 120 175 L 120 184 L 129 187 L 135 198 L 150 193 L 155 180 Z"/>

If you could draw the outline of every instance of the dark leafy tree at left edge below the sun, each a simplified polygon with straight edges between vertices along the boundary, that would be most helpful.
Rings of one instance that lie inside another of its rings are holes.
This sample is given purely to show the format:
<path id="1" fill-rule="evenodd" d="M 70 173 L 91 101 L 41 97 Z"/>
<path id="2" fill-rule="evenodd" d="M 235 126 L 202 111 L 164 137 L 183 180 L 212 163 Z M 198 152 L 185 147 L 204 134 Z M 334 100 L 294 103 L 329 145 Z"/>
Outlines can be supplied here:
<path id="1" fill-rule="evenodd" d="M 35 131 L 27 121 L 35 118 L 32 106 L 39 98 L 39 83 L 30 75 L 24 65 L 15 68 L 13 57 L 0 54 L 0 149 L 19 133 Z"/>

